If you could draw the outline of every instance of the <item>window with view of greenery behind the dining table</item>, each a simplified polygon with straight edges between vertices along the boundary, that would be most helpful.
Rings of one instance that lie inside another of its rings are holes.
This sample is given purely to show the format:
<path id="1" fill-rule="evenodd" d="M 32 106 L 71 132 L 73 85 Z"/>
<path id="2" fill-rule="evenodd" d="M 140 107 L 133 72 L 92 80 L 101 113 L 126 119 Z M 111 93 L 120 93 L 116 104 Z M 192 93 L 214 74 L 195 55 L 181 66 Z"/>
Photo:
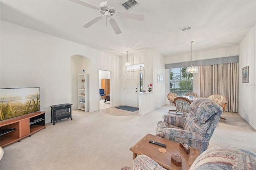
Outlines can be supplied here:
<path id="1" fill-rule="evenodd" d="M 193 91 L 193 74 L 187 74 L 186 68 L 170 69 L 170 93 L 185 96 L 187 92 Z"/>

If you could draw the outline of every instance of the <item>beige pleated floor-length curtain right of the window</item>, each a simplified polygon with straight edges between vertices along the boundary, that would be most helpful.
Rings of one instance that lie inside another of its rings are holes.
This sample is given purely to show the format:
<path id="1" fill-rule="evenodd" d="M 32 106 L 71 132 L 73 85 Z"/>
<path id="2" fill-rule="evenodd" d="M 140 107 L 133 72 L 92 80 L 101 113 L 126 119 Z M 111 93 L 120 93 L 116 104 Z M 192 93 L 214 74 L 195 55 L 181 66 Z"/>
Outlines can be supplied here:
<path id="1" fill-rule="evenodd" d="M 200 96 L 221 94 L 228 100 L 227 112 L 238 112 L 238 63 L 200 66 Z"/>

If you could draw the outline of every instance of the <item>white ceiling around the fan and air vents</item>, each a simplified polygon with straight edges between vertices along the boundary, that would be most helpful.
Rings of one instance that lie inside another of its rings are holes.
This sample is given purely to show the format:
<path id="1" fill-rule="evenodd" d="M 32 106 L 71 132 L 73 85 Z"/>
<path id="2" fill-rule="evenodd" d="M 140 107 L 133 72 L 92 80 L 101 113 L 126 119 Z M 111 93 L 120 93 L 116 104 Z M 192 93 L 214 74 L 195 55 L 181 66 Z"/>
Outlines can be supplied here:
<path id="1" fill-rule="evenodd" d="M 84 0 L 99 6 L 99 0 Z M 1 19 L 84 44 L 115 55 L 156 50 L 164 56 L 236 46 L 256 23 L 256 0 L 137 0 L 125 10 L 124 0 L 108 0 L 116 11 L 144 14 L 143 21 L 112 16 L 122 33 L 106 19 L 82 26 L 98 10 L 68 0 L 0 0 Z M 184 32 L 180 28 L 192 26 Z"/>

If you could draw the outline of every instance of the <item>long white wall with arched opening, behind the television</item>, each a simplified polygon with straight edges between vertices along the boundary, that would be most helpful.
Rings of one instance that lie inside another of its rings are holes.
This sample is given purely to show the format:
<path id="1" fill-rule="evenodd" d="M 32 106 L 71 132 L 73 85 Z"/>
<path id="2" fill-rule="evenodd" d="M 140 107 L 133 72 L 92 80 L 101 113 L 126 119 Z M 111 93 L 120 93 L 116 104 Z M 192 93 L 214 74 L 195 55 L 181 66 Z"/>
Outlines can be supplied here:
<path id="1" fill-rule="evenodd" d="M 90 68 L 84 63 L 79 68 L 82 73 L 85 67 L 90 74 L 90 112 L 99 110 L 99 92 L 95 86 L 98 70 L 117 73 L 112 75 L 113 82 L 121 79 L 117 56 L 3 20 L 0 24 L 0 88 L 40 87 L 41 110 L 46 111 L 46 122 L 50 122 L 51 105 L 73 100 L 72 56 L 90 60 Z M 120 87 L 114 83 L 112 106 L 121 104 Z"/>

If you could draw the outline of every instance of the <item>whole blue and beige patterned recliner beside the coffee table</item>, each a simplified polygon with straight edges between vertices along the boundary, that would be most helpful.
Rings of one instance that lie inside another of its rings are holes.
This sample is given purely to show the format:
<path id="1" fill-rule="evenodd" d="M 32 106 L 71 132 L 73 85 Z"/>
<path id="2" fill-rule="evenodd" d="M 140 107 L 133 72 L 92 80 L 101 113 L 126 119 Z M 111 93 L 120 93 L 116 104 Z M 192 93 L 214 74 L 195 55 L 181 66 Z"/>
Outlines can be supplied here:
<path id="1" fill-rule="evenodd" d="M 216 102 L 207 98 L 196 99 L 190 104 L 187 118 L 164 115 L 164 120 L 157 124 L 156 136 L 183 142 L 201 154 L 208 148 L 222 112 L 222 107 Z"/>

